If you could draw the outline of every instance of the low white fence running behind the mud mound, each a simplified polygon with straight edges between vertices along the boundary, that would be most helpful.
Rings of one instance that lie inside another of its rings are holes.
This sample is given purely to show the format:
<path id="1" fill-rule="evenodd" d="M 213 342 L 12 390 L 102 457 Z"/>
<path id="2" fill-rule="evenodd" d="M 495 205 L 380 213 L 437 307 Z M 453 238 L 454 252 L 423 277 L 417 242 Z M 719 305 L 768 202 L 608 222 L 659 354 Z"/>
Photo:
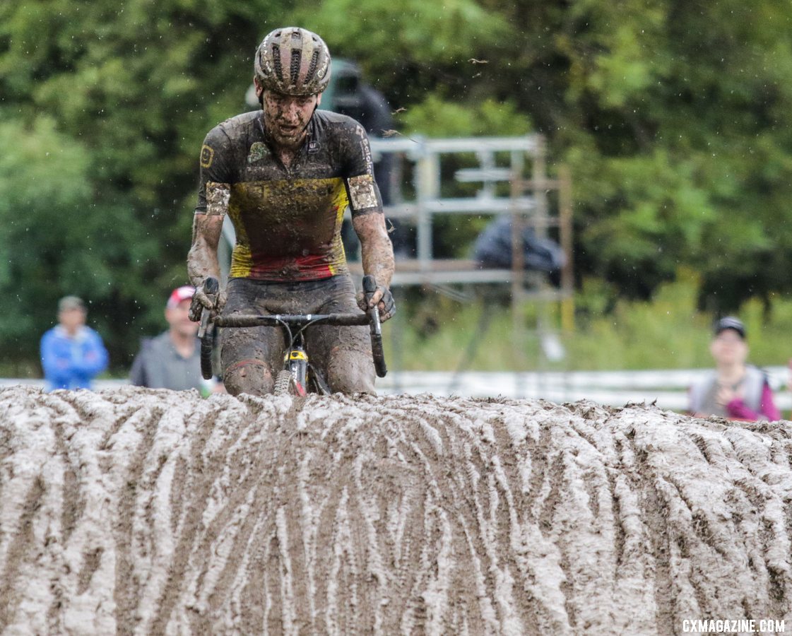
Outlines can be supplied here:
<path id="1" fill-rule="evenodd" d="M 382 394 L 459 395 L 463 397 L 541 398 L 550 402 L 591 400 L 608 406 L 628 402 L 656 402 L 662 409 L 682 411 L 687 407 L 687 387 L 706 374 L 707 369 L 672 371 L 552 371 L 464 373 L 436 371 L 390 371 L 377 380 Z M 792 408 L 792 394 L 786 389 L 789 369 L 767 367 L 775 404 Z M 0 379 L 0 388 L 13 384 L 44 387 L 40 379 Z M 120 387 L 124 380 L 98 380 L 97 390 Z"/>

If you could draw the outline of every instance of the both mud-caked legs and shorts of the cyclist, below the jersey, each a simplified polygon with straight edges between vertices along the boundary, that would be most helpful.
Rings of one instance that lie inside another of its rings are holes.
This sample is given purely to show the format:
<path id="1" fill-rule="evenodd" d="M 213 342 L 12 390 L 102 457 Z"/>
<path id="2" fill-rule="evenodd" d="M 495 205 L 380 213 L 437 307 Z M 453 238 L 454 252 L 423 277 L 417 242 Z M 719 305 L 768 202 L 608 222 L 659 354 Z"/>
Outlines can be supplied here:
<path id="1" fill-rule="evenodd" d="M 300 283 L 242 278 L 228 283 L 223 314 L 354 313 L 355 287 L 349 276 Z M 310 363 L 321 369 L 330 390 L 374 394 L 371 341 L 365 326 L 322 326 L 306 329 Z M 223 382 L 232 395 L 272 393 L 284 366 L 284 331 L 273 327 L 223 329 Z"/>

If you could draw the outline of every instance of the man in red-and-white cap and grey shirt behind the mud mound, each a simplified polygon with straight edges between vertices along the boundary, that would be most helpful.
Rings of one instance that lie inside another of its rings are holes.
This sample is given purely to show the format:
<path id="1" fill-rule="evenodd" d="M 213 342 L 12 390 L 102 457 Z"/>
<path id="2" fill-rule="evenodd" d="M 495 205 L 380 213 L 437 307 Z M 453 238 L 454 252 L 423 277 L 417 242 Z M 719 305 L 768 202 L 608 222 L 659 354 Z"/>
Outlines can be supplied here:
<path id="1" fill-rule="evenodd" d="M 190 285 L 174 289 L 165 307 L 168 330 L 157 337 L 143 338 L 132 362 L 130 382 L 150 389 L 197 389 L 204 396 L 214 390 L 214 383 L 204 380 L 200 372 L 198 323 L 189 318 L 195 288 Z"/>

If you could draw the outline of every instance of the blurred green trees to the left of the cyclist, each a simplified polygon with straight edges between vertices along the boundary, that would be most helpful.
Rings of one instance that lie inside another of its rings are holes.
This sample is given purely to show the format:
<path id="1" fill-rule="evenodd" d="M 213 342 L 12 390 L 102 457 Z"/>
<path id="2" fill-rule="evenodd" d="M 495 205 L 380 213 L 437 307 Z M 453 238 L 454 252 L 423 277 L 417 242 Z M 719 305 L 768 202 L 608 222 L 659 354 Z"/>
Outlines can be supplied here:
<path id="1" fill-rule="evenodd" d="M 261 16 L 282 13 L 222 0 L 0 5 L 0 210 L 12 228 L 0 291 L 20 299 L 6 359 L 36 359 L 62 293 L 91 303 L 116 372 L 162 329 L 167 292 L 187 280 L 201 141 L 244 109 Z"/>

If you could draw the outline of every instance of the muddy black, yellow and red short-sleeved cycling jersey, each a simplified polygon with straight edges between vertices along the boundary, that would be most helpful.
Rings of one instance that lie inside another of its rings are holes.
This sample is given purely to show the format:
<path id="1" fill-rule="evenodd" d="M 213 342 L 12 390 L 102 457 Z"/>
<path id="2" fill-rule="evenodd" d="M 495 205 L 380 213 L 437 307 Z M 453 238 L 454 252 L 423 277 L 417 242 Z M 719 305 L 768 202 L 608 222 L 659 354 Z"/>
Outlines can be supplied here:
<path id="1" fill-rule="evenodd" d="M 237 244 L 230 276 L 319 280 L 348 272 L 341 222 L 382 211 L 364 128 L 317 110 L 290 166 L 272 151 L 261 110 L 215 126 L 200 154 L 196 213 L 223 214 Z"/>

